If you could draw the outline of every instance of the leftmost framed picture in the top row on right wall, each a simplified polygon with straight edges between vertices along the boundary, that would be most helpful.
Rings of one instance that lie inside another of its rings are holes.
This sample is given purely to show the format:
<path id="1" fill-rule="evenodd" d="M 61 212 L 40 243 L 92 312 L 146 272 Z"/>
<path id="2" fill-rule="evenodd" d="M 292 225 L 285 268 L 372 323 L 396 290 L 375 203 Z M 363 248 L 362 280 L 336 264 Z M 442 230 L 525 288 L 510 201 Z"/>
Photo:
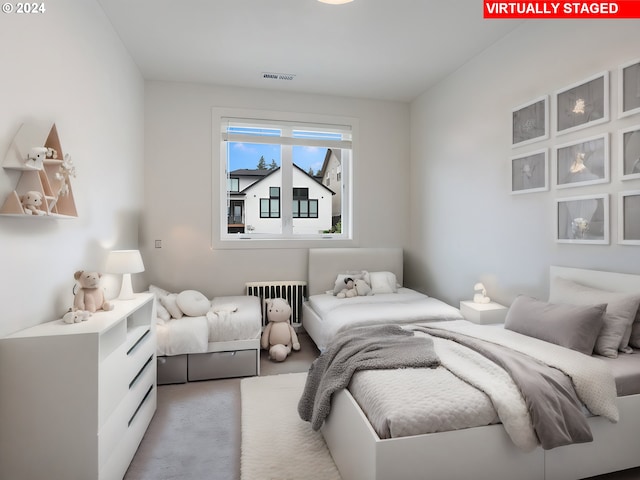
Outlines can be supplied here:
<path id="1" fill-rule="evenodd" d="M 511 145 L 519 147 L 549 138 L 549 97 L 520 105 L 511 112 Z"/>

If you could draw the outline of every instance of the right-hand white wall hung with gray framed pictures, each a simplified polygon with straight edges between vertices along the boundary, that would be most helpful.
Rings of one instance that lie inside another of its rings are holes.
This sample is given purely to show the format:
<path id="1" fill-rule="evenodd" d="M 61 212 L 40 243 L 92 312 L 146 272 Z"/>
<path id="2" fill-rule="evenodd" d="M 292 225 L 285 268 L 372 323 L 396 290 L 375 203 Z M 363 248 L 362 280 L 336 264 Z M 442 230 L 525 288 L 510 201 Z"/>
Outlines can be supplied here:
<path id="1" fill-rule="evenodd" d="M 619 180 L 617 131 L 640 116 L 617 119 L 617 69 L 640 57 L 639 44 L 638 20 L 528 21 L 413 102 L 409 283 L 457 305 L 482 280 L 509 304 L 519 293 L 546 297 L 551 264 L 640 273 L 640 247 L 617 245 L 617 192 L 640 188 Z M 511 148 L 514 107 L 605 70 L 610 122 L 556 138 L 552 120 L 548 141 Z M 510 194 L 512 155 L 603 132 L 609 184 Z M 556 243 L 555 199 L 596 193 L 611 196 L 611 245 Z"/>

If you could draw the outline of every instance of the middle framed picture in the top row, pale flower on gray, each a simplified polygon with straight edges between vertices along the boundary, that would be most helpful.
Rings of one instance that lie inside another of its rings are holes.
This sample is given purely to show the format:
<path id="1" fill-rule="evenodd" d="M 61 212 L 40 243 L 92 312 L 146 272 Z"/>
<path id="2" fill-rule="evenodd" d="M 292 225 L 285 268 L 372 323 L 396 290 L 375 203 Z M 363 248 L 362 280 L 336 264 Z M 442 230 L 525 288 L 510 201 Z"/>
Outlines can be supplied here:
<path id="1" fill-rule="evenodd" d="M 564 134 L 609 121 L 609 72 L 556 92 L 556 131 Z"/>

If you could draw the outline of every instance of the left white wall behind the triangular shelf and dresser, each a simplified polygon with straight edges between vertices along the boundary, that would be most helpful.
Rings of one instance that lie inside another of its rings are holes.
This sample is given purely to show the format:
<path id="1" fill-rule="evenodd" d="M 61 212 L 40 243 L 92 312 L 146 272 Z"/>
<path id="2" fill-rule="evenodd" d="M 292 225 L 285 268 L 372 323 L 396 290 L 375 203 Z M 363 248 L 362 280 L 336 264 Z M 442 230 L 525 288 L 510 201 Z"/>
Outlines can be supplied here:
<path id="1" fill-rule="evenodd" d="M 55 122 L 78 218 L 0 217 L 0 335 L 59 318 L 76 270 L 102 270 L 107 250 L 138 242 L 144 82 L 95 0 L 45 7 L 0 19 L 0 161 L 21 123 Z M 0 169 L 0 202 L 16 181 Z M 118 279 L 105 280 L 117 294 Z"/>

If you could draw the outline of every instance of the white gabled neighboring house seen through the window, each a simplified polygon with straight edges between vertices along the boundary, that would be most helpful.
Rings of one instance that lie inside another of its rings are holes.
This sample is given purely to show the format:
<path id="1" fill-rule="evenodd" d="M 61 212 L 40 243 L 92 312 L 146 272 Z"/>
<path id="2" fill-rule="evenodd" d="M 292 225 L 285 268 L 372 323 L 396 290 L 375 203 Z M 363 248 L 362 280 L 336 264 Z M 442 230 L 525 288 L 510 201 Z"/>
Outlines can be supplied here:
<path id="1" fill-rule="evenodd" d="M 234 170 L 229 174 L 229 233 L 281 233 L 280 168 Z M 293 169 L 293 233 L 318 234 L 331 228 L 335 193 L 304 170 Z"/>

